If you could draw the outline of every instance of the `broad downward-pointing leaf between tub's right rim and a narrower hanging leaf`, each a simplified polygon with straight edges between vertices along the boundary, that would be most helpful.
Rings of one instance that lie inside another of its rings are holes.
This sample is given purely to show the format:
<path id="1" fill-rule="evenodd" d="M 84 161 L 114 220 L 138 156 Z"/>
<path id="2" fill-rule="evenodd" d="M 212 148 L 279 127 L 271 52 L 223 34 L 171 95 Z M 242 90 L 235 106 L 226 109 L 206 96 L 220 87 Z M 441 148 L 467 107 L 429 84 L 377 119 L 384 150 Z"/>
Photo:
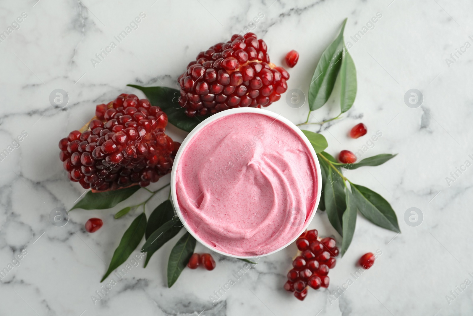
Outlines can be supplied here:
<path id="1" fill-rule="evenodd" d="M 327 183 L 324 187 L 325 210 L 330 224 L 342 236 L 342 216 L 347 207 L 344 192 L 345 184 L 343 182 L 340 175 L 333 168 L 330 168 L 327 172 Z"/>

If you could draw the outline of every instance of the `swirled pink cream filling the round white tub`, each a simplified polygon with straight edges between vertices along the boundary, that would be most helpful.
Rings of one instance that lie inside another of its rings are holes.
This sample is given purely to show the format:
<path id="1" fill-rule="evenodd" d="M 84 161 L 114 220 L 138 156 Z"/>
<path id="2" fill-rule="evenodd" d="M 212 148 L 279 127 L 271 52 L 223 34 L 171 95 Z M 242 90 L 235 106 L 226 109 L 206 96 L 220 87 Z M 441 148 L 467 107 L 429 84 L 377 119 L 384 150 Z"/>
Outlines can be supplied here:
<path id="1" fill-rule="evenodd" d="M 175 171 L 188 228 L 211 249 L 241 257 L 272 253 L 297 238 L 315 212 L 318 185 L 301 136 L 253 112 L 202 127 Z"/>

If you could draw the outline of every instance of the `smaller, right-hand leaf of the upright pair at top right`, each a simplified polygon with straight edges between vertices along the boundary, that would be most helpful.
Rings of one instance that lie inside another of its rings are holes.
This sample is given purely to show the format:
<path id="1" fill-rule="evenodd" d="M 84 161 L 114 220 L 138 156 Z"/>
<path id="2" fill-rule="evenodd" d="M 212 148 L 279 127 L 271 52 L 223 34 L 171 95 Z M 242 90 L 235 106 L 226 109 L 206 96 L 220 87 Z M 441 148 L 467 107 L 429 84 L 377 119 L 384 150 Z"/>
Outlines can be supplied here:
<path id="1" fill-rule="evenodd" d="M 355 102 L 357 81 L 356 68 L 350 53 L 345 46 L 342 57 L 342 67 L 340 68 L 340 78 L 342 81 L 342 89 L 340 92 L 340 108 L 342 113 L 348 111 L 353 102 Z"/>

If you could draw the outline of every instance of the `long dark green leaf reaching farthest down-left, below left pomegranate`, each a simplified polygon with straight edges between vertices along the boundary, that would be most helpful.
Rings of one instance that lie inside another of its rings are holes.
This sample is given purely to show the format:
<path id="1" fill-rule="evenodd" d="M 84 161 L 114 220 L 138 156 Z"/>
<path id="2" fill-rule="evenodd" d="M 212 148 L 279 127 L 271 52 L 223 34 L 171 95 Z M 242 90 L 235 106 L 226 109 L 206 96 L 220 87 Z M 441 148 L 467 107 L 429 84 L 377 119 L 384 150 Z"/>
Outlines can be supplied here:
<path id="1" fill-rule="evenodd" d="M 114 271 L 128 259 L 130 254 L 135 250 L 136 247 L 138 247 L 138 244 L 140 244 L 140 241 L 145 234 L 145 230 L 146 214 L 141 213 L 133 220 L 130 227 L 128 227 L 125 234 L 123 234 L 120 244 L 118 245 L 117 249 L 115 249 L 110 266 L 108 267 L 107 272 L 105 272 L 105 275 L 102 280 L 100 280 L 100 282 L 103 282 L 108 277 L 108 275 L 112 273 L 112 271 Z"/>

